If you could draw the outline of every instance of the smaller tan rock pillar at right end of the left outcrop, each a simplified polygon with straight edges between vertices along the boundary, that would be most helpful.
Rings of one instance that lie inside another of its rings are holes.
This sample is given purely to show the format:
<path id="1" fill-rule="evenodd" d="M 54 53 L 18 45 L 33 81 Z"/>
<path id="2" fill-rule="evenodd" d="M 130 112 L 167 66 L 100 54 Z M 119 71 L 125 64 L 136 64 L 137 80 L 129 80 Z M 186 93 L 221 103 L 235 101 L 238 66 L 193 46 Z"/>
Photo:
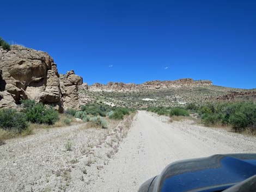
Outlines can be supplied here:
<path id="1" fill-rule="evenodd" d="M 80 107 L 80 101 L 78 97 L 78 86 L 83 84 L 83 79 L 80 76 L 75 75 L 73 70 L 68 71 L 64 76 L 59 77 L 60 88 L 63 94 L 64 108 Z"/>

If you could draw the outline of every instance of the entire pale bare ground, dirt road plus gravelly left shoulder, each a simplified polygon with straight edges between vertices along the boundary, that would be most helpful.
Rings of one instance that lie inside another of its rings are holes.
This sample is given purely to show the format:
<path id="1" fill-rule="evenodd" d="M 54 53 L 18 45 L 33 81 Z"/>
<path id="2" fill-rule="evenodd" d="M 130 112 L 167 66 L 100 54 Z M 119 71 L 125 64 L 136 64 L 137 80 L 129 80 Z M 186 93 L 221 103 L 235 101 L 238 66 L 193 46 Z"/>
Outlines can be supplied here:
<path id="1" fill-rule="evenodd" d="M 7 140 L 0 146 L 0 191 L 136 192 L 176 160 L 256 153 L 255 146 L 255 137 L 228 128 L 139 111 L 109 129 L 82 123 Z"/>

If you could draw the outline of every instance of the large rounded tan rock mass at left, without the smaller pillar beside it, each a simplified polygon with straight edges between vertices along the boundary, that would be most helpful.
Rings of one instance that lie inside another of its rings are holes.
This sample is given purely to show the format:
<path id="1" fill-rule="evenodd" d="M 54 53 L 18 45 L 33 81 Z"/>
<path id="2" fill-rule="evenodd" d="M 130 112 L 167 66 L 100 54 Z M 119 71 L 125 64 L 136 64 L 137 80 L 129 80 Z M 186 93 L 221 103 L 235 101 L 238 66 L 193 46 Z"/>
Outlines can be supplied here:
<path id="1" fill-rule="evenodd" d="M 51 104 L 58 110 L 62 110 L 59 74 L 50 55 L 42 51 L 13 45 L 10 51 L 0 49 L 0 58 L 1 95 L 4 100 L 6 98 L 9 101 L 9 104 L 1 104 L 0 108 L 13 107 L 21 99 L 31 99 Z"/>

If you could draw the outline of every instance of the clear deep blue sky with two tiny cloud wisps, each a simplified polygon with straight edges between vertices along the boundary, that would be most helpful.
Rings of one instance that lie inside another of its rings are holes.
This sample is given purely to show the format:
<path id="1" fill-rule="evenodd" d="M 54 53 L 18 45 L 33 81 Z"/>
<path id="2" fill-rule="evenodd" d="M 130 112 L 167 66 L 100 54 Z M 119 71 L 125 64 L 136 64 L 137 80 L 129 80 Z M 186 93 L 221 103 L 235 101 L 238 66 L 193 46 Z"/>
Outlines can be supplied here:
<path id="1" fill-rule="evenodd" d="M 192 3 L 193 2 L 193 3 Z M 256 88 L 256 1 L 2 1 L 0 36 L 89 84 L 178 78 Z"/>

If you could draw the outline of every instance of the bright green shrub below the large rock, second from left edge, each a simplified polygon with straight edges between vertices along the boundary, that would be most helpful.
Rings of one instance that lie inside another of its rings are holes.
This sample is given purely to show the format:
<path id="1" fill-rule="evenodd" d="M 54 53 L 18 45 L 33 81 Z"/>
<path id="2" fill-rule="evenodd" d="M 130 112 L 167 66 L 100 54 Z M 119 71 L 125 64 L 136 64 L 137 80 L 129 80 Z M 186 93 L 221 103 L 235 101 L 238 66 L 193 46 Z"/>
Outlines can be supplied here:
<path id="1" fill-rule="evenodd" d="M 22 104 L 25 106 L 27 120 L 32 123 L 53 125 L 59 119 L 59 114 L 55 109 L 46 107 L 42 103 L 23 100 Z"/>

